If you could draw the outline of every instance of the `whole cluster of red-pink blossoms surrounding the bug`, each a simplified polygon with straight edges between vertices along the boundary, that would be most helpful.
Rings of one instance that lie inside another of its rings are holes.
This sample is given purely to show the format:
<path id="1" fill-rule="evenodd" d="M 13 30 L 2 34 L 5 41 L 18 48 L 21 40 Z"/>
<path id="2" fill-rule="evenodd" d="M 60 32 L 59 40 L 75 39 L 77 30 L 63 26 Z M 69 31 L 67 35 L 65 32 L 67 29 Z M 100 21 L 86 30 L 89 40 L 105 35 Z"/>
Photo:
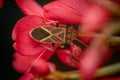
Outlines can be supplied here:
<path id="1" fill-rule="evenodd" d="M 110 57 L 111 52 L 102 40 L 94 47 L 89 44 L 91 38 L 80 37 L 79 39 L 88 45 L 84 52 L 75 44 L 70 45 L 68 49 L 59 49 L 59 45 L 55 44 L 53 50 L 48 50 L 29 35 L 32 29 L 39 26 L 54 27 L 44 21 L 78 24 L 78 36 L 100 33 L 103 25 L 111 19 L 112 12 L 107 8 L 95 4 L 93 0 L 54 0 L 43 7 L 34 0 L 16 0 L 16 3 L 25 14 L 25 17 L 17 21 L 12 32 L 15 49 L 13 67 L 24 73 L 19 80 L 34 80 L 38 76 L 49 74 L 51 67 L 55 69 L 54 64 L 48 61 L 54 53 L 64 64 L 79 69 L 85 80 L 92 79 L 96 69 Z M 78 62 L 72 60 L 70 55 L 78 59 Z"/>

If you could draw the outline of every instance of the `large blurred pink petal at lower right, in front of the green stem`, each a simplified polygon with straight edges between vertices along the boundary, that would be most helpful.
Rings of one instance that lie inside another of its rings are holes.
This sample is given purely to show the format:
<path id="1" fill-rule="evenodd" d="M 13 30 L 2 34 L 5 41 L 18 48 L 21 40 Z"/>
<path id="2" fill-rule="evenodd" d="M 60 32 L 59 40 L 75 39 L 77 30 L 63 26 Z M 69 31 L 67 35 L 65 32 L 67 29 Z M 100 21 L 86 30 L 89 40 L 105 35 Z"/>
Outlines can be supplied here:
<path id="1" fill-rule="evenodd" d="M 91 80 L 96 70 L 105 64 L 111 56 L 112 50 L 109 49 L 107 43 L 102 39 L 98 38 L 98 43 L 89 46 L 80 61 L 80 71 L 83 73 L 85 80 Z"/>

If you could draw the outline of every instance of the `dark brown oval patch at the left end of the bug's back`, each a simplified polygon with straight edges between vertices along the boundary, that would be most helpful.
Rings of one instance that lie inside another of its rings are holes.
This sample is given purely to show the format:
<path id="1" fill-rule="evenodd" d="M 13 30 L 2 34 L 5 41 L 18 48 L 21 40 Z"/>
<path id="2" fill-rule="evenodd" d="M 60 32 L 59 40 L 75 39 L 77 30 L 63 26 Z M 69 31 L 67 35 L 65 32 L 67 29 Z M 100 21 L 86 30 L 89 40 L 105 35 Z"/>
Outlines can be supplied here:
<path id="1" fill-rule="evenodd" d="M 31 35 L 34 39 L 41 40 L 48 37 L 50 34 L 41 28 L 36 28 L 32 31 Z"/>

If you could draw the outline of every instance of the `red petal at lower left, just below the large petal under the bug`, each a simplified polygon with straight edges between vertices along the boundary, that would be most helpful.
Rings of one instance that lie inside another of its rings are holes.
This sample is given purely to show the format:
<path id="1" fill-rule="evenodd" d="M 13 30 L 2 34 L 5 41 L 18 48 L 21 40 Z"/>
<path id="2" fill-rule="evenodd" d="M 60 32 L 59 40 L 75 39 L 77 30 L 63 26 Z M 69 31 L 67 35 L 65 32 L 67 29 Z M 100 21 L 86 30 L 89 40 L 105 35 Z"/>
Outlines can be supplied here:
<path id="1" fill-rule="evenodd" d="M 30 66 L 32 60 L 36 58 L 37 55 L 34 56 L 23 56 L 17 52 L 14 53 L 14 61 L 12 63 L 14 69 L 17 72 L 23 73 Z"/>

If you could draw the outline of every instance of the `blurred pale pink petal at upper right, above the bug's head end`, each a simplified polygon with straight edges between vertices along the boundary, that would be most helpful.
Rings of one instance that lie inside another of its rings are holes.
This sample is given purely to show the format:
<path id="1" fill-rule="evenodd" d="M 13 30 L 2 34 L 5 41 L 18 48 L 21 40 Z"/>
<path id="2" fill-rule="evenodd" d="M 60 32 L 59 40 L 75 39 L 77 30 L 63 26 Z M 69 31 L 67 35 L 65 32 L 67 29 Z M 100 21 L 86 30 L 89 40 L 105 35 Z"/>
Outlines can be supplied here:
<path id="1" fill-rule="evenodd" d="M 110 19 L 110 12 L 103 7 L 94 5 L 82 16 L 81 32 L 99 32 Z"/>

